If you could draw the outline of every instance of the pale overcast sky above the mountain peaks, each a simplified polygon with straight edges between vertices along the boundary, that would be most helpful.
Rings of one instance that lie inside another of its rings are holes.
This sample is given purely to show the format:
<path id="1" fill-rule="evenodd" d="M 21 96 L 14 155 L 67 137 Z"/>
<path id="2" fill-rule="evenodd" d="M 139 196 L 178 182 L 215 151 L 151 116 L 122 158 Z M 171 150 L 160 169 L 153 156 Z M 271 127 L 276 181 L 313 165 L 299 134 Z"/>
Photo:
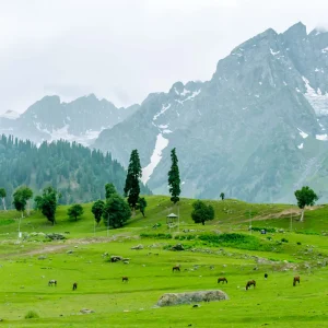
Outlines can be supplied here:
<path id="1" fill-rule="evenodd" d="M 328 26 L 327 0 L 0 0 L 0 113 L 44 95 L 141 103 L 272 27 Z"/>

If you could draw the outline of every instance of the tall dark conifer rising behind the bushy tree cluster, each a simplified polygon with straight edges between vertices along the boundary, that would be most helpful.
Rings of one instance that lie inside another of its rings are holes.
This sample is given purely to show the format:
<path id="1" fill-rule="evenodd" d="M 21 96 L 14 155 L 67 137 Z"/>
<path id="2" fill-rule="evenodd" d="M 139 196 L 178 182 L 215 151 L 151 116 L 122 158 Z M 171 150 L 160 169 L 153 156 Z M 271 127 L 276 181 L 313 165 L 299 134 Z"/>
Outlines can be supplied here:
<path id="1" fill-rule="evenodd" d="M 130 208 L 133 210 L 133 215 L 136 214 L 136 207 L 139 200 L 140 186 L 139 179 L 142 176 L 140 159 L 138 154 L 138 150 L 134 149 L 131 152 L 130 163 L 128 167 L 128 175 L 126 179 L 125 186 L 125 196 L 128 197 L 128 203 Z"/>

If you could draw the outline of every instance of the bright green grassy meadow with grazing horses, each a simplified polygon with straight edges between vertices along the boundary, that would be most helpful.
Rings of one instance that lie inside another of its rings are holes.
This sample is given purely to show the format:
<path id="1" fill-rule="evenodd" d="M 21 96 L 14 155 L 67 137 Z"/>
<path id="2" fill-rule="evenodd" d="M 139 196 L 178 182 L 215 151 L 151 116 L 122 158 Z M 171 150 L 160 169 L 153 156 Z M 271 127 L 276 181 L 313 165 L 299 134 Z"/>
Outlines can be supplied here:
<path id="1" fill-rule="evenodd" d="M 67 207 L 58 208 L 55 226 L 39 213 L 22 220 L 24 235 L 70 232 L 58 242 L 19 239 L 19 213 L 1 211 L 0 326 L 327 327 L 327 207 L 307 210 L 302 223 L 293 206 L 212 201 L 215 220 L 203 226 L 190 219 L 192 200 L 181 200 L 179 209 L 167 197 L 147 200 L 147 218 L 137 214 L 120 230 L 107 231 L 103 224 L 94 230 L 91 204 L 77 222 L 67 218 Z M 177 211 L 180 229 L 169 234 L 165 216 Z M 253 226 L 277 230 L 250 233 L 250 218 Z M 161 226 L 153 229 L 156 223 Z M 185 250 L 169 250 L 177 243 Z M 138 244 L 143 249 L 131 249 Z M 130 261 L 112 263 L 110 255 Z M 173 273 L 177 263 L 181 271 Z M 301 284 L 293 286 L 296 274 Z M 121 282 L 122 276 L 129 277 L 128 283 Z M 227 284 L 218 285 L 221 276 Z M 50 279 L 58 281 L 56 288 L 48 286 Z M 257 286 L 245 291 L 250 279 Z M 226 292 L 230 300 L 197 308 L 154 307 L 164 293 L 212 289 Z M 81 314 L 82 308 L 94 313 Z M 38 318 L 25 319 L 28 311 Z"/>

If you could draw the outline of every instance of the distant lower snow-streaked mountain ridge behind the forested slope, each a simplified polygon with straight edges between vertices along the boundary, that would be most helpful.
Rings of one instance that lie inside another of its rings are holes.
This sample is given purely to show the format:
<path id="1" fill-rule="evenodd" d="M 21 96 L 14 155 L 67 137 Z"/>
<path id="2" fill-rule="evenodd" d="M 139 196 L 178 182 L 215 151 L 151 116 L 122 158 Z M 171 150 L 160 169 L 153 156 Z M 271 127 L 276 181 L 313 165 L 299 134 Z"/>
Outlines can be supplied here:
<path id="1" fill-rule="evenodd" d="M 71 103 L 60 102 L 59 96 L 45 96 L 22 115 L 9 110 L 0 116 L 0 133 L 11 133 L 36 143 L 66 139 L 89 145 L 103 129 L 122 121 L 138 107 L 117 108 L 94 94 Z"/>

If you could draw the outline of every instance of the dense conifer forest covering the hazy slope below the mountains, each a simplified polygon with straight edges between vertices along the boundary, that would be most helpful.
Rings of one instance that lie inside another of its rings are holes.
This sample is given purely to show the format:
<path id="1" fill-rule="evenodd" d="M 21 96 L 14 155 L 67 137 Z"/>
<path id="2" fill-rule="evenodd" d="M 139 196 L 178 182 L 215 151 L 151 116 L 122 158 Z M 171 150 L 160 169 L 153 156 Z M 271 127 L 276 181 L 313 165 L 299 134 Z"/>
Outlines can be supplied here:
<path id="1" fill-rule="evenodd" d="M 124 192 L 125 168 L 107 152 L 91 150 L 75 142 L 33 142 L 12 136 L 0 138 L 0 187 L 7 190 L 5 203 L 12 207 L 13 190 L 26 185 L 34 196 L 52 186 L 60 194 L 60 203 L 89 202 L 105 198 L 105 184 L 113 183 Z M 141 194 L 151 194 L 143 185 Z"/>

